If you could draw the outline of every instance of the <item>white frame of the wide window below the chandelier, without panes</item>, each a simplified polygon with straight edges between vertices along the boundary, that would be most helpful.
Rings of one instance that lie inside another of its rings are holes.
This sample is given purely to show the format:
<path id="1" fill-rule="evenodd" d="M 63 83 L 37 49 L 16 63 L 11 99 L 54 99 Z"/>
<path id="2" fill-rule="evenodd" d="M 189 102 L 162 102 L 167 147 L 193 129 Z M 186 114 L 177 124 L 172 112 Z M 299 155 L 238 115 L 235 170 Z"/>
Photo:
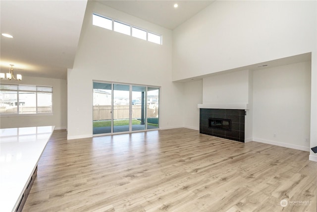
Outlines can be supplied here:
<path id="1" fill-rule="evenodd" d="M 5 89 L 5 86 L 10 87 L 11 89 Z M 16 87 L 14 89 L 14 87 Z M 24 88 L 24 89 L 23 89 Z M 33 88 L 33 89 L 25 89 L 25 88 Z M 15 113 L 0 113 L 0 117 L 8 117 L 8 116 L 50 116 L 53 115 L 53 86 L 47 86 L 47 85 L 27 85 L 27 84 L 7 84 L 7 83 L 1 83 L 0 84 L 0 93 L 2 91 L 13 91 L 16 93 L 16 112 Z M 34 92 L 35 93 L 35 113 L 20 113 L 20 99 L 19 95 L 20 92 Z M 47 113 L 41 113 L 39 112 L 38 108 L 39 106 L 39 99 L 38 94 L 51 94 L 51 112 Z"/>

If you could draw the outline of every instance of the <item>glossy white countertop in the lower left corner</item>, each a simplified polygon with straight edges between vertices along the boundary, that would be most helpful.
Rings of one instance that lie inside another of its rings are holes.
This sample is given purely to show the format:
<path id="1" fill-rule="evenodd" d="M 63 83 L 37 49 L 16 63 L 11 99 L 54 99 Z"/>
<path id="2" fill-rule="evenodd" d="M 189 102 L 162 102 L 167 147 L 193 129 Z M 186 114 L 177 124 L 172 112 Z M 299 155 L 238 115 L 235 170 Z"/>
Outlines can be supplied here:
<path id="1" fill-rule="evenodd" d="M 16 208 L 54 128 L 0 129 L 0 212 Z"/>

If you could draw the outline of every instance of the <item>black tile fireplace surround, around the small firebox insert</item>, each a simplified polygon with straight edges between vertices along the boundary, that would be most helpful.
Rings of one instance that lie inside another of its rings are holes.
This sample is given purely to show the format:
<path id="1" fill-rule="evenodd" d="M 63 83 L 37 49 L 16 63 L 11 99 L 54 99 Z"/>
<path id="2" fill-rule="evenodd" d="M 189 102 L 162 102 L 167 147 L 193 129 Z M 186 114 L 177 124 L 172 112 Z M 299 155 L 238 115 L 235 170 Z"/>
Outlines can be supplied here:
<path id="1" fill-rule="evenodd" d="M 230 119 L 231 131 L 209 127 L 209 118 Z M 244 142 L 245 110 L 240 109 L 207 109 L 200 108 L 201 134 Z"/>

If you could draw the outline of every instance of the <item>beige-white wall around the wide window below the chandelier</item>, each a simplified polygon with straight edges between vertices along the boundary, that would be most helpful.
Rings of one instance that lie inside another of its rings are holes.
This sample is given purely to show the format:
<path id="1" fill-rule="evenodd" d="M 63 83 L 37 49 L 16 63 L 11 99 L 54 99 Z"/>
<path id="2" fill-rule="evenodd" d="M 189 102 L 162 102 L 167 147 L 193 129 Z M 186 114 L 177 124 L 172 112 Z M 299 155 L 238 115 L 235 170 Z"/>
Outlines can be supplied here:
<path id="1" fill-rule="evenodd" d="M 53 115 L 22 115 L 0 118 L 0 128 L 55 126 L 55 130 L 67 126 L 67 84 L 65 79 L 22 76 L 21 81 L 1 79 L 1 83 L 53 86 Z"/>

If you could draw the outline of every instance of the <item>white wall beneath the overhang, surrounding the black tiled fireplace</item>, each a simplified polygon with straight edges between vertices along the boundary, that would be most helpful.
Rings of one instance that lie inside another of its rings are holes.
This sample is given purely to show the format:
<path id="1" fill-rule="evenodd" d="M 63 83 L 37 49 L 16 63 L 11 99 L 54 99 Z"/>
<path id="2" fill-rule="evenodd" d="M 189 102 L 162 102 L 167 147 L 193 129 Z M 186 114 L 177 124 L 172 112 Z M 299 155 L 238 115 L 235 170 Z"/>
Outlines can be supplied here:
<path id="1" fill-rule="evenodd" d="M 204 77 L 202 85 L 201 81 L 185 83 L 185 127 L 199 127 L 199 111 L 194 104 L 200 98 L 204 104 L 247 103 L 246 141 L 309 151 L 310 141 L 306 139 L 310 140 L 310 61 L 258 71 L 215 74 Z"/>

